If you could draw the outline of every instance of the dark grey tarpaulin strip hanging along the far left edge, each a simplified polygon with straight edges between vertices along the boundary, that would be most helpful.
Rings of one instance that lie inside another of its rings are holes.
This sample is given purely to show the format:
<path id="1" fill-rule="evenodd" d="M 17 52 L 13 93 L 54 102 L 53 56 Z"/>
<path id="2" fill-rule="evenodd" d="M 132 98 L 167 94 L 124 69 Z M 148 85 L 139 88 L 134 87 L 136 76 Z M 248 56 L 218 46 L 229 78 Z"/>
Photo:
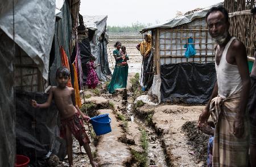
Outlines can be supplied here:
<path id="1" fill-rule="evenodd" d="M 15 161 L 14 42 L 0 29 L 0 166 Z"/>

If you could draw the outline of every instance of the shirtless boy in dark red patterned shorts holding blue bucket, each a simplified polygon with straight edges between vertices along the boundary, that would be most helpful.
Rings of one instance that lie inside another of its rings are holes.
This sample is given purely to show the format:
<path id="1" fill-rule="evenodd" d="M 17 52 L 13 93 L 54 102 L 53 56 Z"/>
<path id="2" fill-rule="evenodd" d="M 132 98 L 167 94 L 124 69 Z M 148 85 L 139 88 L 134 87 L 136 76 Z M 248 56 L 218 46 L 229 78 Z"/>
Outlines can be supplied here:
<path id="1" fill-rule="evenodd" d="M 90 117 L 84 115 L 75 102 L 75 90 L 67 87 L 70 72 L 66 67 L 60 67 L 56 71 L 57 87 L 51 87 L 49 96 L 44 104 L 38 104 L 32 100 L 34 108 L 48 108 L 51 105 L 52 99 L 55 99 L 55 104 L 60 112 L 61 127 L 60 136 L 67 142 L 67 153 L 69 166 L 73 166 L 73 151 L 72 151 L 72 134 L 79 141 L 89 157 L 90 164 L 93 167 L 98 164 L 93 160 L 92 152 L 90 150 L 90 140 L 85 132 L 83 121 L 89 122 Z"/>

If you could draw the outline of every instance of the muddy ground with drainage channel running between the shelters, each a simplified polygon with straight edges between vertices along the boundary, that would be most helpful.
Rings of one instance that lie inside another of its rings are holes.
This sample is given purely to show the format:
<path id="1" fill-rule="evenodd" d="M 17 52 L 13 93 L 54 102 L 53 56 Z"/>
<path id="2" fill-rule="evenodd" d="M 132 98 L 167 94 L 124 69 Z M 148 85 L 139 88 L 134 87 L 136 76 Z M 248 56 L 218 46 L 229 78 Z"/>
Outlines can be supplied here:
<path id="1" fill-rule="evenodd" d="M 138 85 L 134 73 L 129 74 L 127 102 L 122 100 L 123 89 L 110 95 L 108 83 L 81 93 L 83 112 L 90 117 L 109 113 L 112 118 L 112 132 L 106 135 L 96 136 L 92 126 L 85 125 L 96 161 L 101 166 L 205 166 L 209 136 L 196 128 L 204 106 L 135 103 L 147 92 L 132 83 Z M 74 140 L 75 166 L 90 166 L 84 148 L 81 151 Z M 63 163 L 68 165 L 67 158 Z"/>

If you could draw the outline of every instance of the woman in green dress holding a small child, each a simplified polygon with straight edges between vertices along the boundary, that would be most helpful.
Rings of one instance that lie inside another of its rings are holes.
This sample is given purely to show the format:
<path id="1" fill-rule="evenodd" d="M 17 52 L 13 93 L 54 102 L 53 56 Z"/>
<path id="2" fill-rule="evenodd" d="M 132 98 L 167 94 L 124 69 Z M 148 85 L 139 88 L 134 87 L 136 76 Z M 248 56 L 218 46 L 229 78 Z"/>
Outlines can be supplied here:
<path id="1" fill-rule="evenodd" d="M 115 89 L 118 88 L 126 88 L 127 85 L 127 77 L 128 77 L 128 64 L 127 56 L 121 55 L 121 42 L 117 41 L 114 45 L 115 49 L 113 51 L 113 55 L 115 58 L 115 68 L 111 78 L 111 82 L 108 85 L 109 93 L 114 93 Z"/>

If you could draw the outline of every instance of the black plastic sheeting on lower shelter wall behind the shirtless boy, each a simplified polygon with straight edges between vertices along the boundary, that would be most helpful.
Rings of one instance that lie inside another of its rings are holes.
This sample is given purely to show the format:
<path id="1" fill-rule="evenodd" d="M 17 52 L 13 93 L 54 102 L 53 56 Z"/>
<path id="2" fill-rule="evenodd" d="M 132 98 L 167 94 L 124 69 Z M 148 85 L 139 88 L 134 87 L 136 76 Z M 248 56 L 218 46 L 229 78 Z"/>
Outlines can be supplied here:
<path id="1" fill-rule="evenodd" d="M 30 166 L 46 166 L 49 152 L 61 160 L 66 155 L 65 140 L 59 137 L 60 119 L 54 102 L 46 109 L 31 106 L 35 99 L 46 102 L 48 95 L 40 92 L 16 91 L 16 152 L 30 158 Z M 35 128 L 32 121 L 36 122 Z"/>

